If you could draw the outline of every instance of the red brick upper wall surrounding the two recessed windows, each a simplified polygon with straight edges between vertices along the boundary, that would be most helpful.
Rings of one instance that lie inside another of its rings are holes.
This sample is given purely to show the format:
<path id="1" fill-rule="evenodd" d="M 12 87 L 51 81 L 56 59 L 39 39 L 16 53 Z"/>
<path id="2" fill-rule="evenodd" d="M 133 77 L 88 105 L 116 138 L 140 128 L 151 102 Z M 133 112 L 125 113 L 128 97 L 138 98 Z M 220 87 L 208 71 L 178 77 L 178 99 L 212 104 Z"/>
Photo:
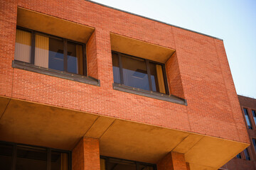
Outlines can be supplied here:
<path id="1" fill-rule="evenodd" d="M 87 44 L 88 72 L 100 86 L 91 86 L 11 68 L 16 6 L 0 3 L 2 96 L 248 142 L 221 40 L 84 0 L 19 0 L 23 8 L 95 28 Z M 175 49 L 166 63 L 169 86 L 188 106 L 113 90 L 110 32 Z"/>

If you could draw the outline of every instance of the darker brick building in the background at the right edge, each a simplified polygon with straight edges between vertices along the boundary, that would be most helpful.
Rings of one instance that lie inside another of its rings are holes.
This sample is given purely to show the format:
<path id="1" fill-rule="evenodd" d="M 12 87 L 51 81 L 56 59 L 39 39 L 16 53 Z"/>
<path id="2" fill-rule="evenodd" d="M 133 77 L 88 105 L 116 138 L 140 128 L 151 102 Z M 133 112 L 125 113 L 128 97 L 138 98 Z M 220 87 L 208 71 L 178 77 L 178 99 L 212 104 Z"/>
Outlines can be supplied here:
<path id="1" fill-rule="evenodd" d="M 240 152 L 222 168 L 232 170 L 256 169 L 256 99 L 240 95 L 238 95 L 238 99 L 244 113 L 250 147 Z"/>

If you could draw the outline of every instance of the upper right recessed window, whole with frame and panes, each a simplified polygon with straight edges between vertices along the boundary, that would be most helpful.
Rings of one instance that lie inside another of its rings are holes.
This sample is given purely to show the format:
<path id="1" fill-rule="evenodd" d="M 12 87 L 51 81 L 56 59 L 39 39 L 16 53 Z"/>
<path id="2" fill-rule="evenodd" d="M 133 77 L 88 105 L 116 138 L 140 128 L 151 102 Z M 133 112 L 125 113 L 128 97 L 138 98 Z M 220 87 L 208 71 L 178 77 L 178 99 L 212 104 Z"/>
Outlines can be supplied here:
<path id="1" fill-rule="evenodd" d="M 112 52 L 114 83 L 169 94 L 164 64 Z"/>

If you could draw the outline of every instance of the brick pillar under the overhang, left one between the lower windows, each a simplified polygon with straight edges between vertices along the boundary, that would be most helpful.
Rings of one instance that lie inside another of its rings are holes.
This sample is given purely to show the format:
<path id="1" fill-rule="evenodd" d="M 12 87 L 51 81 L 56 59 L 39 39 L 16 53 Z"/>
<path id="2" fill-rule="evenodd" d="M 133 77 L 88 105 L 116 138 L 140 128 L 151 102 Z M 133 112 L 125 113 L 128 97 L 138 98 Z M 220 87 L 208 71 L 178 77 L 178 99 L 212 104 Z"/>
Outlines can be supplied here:
<path id="1" fill-rule="evenodd" d="M 100 170 L 99 140 L 83 137 L 72 151 L 73 170 Z"/>

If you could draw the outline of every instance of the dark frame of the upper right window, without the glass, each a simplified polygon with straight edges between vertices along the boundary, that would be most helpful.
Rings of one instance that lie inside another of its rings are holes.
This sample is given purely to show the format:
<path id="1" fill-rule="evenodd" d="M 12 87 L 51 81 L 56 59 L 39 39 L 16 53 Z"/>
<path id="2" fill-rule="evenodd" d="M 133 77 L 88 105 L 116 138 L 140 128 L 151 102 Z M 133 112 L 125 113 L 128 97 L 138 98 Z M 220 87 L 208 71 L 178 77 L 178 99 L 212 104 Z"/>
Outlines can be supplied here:
<path id="1" fill-rule="evenodd" d="M 111 54 L 112 53 L 115 53 L 117 54 L 118 56 L 118 64 L 119 64 L 119 78 L 120 78 L 120 85 L 121 86 L 126 86 L 124 85 L 124 74 L 123 74 L 123 70 L 122 70 L 122 56 L 121 55 L 124 55 L 124 56 L 127 56 L 127 57 L 133 57 L 135 59 L 139 59 L 139 60 L 144 60 L 145 64 L 146 64 L 146 72 L 147 72 L 147 75 L 148 75 L 148 78 L 149 78 L 149 91 L 153 91 L 152 90 L 152 81 L 151 81 L 151 73 L 150 73 L 150 67 L 149 67 L 149 62 L 152 62 L 154 64 L 159 64 L 161 65 L 162 69 L 163 69 L 163 77 L 164 77 L 164 89 L 166 91 L 166 94 L 165 95 L 169 95 L 169 87 L 168 87 L 168 83 L 167 83 L 167 77 L 166 77 L 166 68 L 165 68 L 165 64 L 163 63 L 160 63 L 160 62 L 155 62 L 155 61 L 152 61 L 152 60 L 148 60 L 148 59 L 145 59 L 145 58 L 141 58 L 141 57 L 137 57 L 137 56 L 133 56 L 133 55 L 127 55 L 127 54 L 124 54 L 122 52 L 117 52 L 117 51 L 111 51 Z M 114 83 L 114 84 L 117 84 L 117 83 Z M 132 86 L 129 86 L 129 87 L 132 87 Z M 132 87 L 134 88 L 134 87 Z M 139 88 L 134 88 L 134 89 L 139 89 Z M 144 89 L 139 89 L 139 90 L 143 90 L 143 91 L 146 91 Z M 163 94 L 161 92 L 158 92 L 158 91 L 153 91 L 154 93 L 159 93 L 159 94 Z"/>

